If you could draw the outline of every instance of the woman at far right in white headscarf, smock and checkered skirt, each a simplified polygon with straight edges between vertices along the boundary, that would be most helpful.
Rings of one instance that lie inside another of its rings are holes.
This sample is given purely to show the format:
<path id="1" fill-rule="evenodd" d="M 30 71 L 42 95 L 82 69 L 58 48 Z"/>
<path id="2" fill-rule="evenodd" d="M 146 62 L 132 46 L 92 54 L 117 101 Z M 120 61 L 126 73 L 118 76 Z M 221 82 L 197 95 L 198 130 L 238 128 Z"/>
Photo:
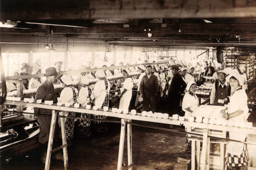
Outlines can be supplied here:
<path id="1" fill-rule="evenodd" d="M 222 110 L 222 117 L 232 121 L 246 122 L 248 114 L 247 95 L 242 89 L 243 79 L 238 73 L 231 73 L 227 81 L 232 88 L 230 103 L 228 104 L 228 113 Z M 246 141 L 246 133 L 229 132 L 230 139 L 237 141 Z M 248 149 L 244 143 L 230 141 L 227 145 L 226 165 L 228 169 L 241 169 L 248 166 Z"/>

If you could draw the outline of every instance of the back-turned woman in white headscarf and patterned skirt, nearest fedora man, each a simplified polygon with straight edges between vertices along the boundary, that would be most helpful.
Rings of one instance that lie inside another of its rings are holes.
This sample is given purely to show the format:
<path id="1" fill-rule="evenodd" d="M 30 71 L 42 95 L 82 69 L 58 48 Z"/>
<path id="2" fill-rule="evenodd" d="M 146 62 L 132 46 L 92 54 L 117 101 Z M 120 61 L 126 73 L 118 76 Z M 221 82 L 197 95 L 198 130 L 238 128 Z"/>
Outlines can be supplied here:
<path id="1" fill-rule="evenodd" d="M 65 84 L 65 88 L 60 93 L 61 102 L 63 104 L 65 104 L 65 103 L 70 103 L 70 104 L 78 103 L 77 102 L 78 90 L 73 87 L 72 79 L 70 78 L 70 76 L 63 75 L 60 78 L 60 82 Z M 71 116 L 71 117 L 76 116 L 76 112 L 74 112 L 74 111 L 63 111 L 63 113 L 64 113 L 64 116 Z M 75 126 L 75 119 L 66 118 L 65 127 L 66 127 L 66 140 L 67 140 L 68 145 L 71 145 L 73 143 L 74 126 Z"/>

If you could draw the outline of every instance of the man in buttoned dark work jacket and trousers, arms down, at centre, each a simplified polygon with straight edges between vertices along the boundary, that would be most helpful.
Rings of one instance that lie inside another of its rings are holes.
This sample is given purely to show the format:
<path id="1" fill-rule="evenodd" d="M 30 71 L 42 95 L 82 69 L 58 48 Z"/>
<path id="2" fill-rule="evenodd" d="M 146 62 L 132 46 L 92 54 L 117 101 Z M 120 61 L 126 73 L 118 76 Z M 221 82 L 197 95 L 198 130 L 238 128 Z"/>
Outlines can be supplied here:
<path id="1" fill-rule="evenodd" d="M 157 77 L 152 74 L 152 66 L 146 66 L 146 75 L 140 82 L 140 94 L 143 98 L 144 111 L 156 111 L 156 96 L 158 94 L 159 84 Z"/>

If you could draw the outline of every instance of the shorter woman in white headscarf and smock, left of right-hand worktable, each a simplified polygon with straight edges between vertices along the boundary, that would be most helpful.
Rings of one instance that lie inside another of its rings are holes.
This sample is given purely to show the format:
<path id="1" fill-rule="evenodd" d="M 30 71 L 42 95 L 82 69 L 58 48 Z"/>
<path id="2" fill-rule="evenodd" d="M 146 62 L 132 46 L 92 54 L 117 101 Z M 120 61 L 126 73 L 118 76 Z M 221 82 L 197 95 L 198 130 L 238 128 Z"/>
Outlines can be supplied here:
<path id="1" fill-rule="evenodd" d="M 196 82 L 190 81 L 186 87 L 186 94 L 182 101 L 182 110 L 185 111 L 185 119 L 191 116 L 191 113 L 198 107 L 198 98 L 196 92 Z M 186 138 L 186 146 L 191 147 L 191 141 Z"/>

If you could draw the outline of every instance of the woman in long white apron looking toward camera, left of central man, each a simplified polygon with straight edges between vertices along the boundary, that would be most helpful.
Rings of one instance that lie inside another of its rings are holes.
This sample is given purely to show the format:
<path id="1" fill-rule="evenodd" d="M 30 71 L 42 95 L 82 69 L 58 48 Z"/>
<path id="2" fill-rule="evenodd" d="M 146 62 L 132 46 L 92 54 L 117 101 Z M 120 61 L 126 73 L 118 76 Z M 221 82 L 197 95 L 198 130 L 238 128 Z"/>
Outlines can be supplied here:
<path id="1" fill-rule="evenodd" d="M 132 99 L 133 80 L 129 76 L 127 69 L 123 69 L 122 73 L 124 75 L 124 86 L 121 88 L 121 94 L 119 96 L 119 109 L 128 109 Z"/>

